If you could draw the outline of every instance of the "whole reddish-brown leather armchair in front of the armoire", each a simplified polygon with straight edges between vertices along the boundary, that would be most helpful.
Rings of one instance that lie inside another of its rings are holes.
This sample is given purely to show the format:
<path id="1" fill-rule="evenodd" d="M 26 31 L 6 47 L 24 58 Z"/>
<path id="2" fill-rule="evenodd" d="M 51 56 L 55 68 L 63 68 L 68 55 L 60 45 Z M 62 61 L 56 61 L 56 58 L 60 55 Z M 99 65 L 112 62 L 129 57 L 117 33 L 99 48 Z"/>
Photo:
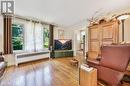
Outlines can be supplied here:
<path id="1" fill-rule="evenodd" d="M 129 45 L 102 46 L 100 61 L 88 60 L 88 65 L 97 68 L 99 80 L 103 80 L 108 86 L 118 86 L 127 69 L 129 58 Z"/>

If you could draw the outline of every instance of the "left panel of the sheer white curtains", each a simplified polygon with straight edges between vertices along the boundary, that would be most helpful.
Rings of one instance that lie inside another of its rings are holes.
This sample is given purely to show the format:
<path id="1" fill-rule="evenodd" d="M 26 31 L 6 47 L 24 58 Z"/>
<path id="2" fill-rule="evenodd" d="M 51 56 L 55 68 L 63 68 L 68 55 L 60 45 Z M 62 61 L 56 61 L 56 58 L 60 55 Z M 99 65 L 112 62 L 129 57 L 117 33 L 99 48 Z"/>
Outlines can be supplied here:
<path id="1" fill-rule="evenodd" d="M 25 30 L 24 30 L 24 36 L 25 36 L 25 51 L 32 52 L 35 50 L 34 46 L 34 23 L 32 22 L 26 22 Z"/>

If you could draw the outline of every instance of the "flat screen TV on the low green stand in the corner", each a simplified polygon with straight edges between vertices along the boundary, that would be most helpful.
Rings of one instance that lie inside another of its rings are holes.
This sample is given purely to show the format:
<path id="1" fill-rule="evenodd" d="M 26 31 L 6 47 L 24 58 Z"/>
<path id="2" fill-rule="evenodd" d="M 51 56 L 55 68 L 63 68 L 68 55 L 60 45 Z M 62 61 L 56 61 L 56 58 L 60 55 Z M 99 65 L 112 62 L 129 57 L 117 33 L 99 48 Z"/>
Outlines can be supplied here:
<path id="1" fill-rule="evenodd" d="M 54 40 L 54 49 L 55 50 L 72 50 L 72 40 L 68 40 L 68 39 Z"/>

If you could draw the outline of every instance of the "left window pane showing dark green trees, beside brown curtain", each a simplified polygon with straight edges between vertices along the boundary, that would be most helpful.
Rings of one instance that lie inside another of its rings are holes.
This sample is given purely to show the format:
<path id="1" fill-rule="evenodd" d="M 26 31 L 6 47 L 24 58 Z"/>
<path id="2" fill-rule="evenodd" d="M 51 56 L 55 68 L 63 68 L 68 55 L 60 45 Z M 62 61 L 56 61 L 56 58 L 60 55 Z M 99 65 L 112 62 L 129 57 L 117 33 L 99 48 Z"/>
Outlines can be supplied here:
<path id="1" fill-rule="evenodd" d="M 23 25 L 12 24 L 13 50 L 23 50 Z"/>

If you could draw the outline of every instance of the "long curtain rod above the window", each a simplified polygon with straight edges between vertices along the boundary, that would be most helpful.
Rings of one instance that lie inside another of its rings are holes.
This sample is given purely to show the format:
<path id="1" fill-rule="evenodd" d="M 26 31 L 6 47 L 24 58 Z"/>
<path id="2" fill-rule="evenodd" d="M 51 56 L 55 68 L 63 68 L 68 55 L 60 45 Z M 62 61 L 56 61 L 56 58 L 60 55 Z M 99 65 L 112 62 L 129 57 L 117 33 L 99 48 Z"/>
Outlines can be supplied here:
<path id="1" fill-rule="evenodd" d="M 14 18 L 18 18 L 18 19 L 22 19 L 22 20 L 25 20 L 25 21 L 32 21 L 32 22 L 35 22 L 35 23 L 41 23 L 41 24 L 46 24 L 46 25 L 54 25 L 54 26 L 57 26 L 55 24 L 51 24 L 51 23 L 48 23 L 48 22 L 44 22 L 42 20 L 39 20 L 39 19 L 32 19 L 32 18 L 27 18 L 27 17 L 23 17 L 23 16 L 19 16 L 19 15 L 14 15 Z"/>

